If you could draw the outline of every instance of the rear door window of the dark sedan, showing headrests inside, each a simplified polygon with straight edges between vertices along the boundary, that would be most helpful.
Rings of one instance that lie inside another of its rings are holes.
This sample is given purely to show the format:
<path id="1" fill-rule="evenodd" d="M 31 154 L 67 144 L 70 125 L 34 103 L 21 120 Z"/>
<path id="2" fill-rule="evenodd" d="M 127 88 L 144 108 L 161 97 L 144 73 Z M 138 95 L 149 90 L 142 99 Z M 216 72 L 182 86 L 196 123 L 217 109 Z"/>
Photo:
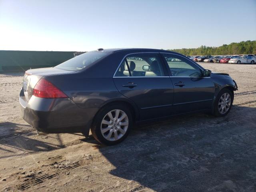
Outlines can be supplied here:
<path id="1" fill-rule="evenodd" d="M 126 56 L 116 71 L 115 77 L 153 77 L 164 76 L 158 54 L 144 53 Z"/>

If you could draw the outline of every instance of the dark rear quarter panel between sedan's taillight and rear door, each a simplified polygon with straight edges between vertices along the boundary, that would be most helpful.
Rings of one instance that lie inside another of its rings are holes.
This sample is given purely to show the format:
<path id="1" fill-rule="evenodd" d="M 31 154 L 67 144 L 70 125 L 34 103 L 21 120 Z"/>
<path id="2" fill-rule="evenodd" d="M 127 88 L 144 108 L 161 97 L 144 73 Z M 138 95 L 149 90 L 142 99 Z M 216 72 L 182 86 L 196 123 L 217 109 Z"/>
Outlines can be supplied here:
<path id="1" fill-rule="evenodd" d="M 138 107 L 118 90 L 113 75 L 124 54 L 110 54 L 101 62 L 85 70 L 70 74 L 44 76 L 62 90 L 79 108 L 98 108 L 113 101 L 124 101 L 131 104 L 138 118 Z"/>

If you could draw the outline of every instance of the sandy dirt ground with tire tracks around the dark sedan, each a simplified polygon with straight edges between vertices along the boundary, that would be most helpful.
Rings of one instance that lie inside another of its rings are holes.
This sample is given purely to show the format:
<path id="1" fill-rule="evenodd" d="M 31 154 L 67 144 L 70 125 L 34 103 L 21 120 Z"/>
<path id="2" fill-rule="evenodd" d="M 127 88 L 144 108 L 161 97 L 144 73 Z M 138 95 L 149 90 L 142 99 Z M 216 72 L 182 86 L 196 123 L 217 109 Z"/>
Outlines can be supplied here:
<path id="1" fill-rule="evenodd" d="M 238 84 L 223 118 L 175 117 L 116 146 L 37 136 L 19 115 L 23 74 L 0 74 L 0 191 L 256 191 L 256 65 L 206 64 Z"/>

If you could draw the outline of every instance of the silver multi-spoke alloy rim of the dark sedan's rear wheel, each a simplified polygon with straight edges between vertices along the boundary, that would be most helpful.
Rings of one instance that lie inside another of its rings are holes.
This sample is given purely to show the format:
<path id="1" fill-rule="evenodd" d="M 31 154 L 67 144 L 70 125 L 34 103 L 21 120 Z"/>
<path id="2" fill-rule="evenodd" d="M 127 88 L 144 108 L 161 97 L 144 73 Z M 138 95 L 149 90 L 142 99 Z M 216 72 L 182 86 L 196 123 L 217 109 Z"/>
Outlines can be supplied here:
<path id="1" fill-rule="evenodd" d="M 112 110 L 102 119 L 100 131 L 108 141 L 116 141 L 122 138 L 129 125 L 127 114 L 122 110 Z"/>

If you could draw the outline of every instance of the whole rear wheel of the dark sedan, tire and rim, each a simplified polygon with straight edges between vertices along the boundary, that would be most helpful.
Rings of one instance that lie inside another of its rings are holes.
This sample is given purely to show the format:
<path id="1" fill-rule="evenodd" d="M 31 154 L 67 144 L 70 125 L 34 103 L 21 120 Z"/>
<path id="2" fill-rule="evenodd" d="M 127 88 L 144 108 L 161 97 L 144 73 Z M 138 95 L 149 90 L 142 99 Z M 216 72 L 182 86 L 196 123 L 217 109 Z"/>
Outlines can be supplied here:
<path id="1" fill-rule="evenodd" d="M 98 142 L 115 145 L 128 136 L 132 124 L 130 108 L 122 104 L 112 104 L 96 114 L 91 131 Z"/>

